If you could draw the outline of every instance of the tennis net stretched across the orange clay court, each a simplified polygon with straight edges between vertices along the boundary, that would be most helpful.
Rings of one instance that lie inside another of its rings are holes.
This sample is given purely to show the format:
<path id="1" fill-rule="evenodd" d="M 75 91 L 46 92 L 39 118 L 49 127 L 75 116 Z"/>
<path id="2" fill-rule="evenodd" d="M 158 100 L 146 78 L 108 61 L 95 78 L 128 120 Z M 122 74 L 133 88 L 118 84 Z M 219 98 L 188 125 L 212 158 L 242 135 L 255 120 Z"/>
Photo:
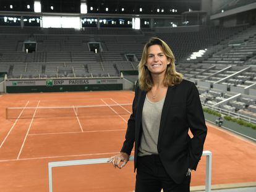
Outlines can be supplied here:
<path id="1" fill-rule="evenodd" d="M 68 107 L 7 107 L 6 119 L 32 119 L 51 117 L 99 117 L 103 115 L 127 115 L 132 104 L 68 106 Z"/>

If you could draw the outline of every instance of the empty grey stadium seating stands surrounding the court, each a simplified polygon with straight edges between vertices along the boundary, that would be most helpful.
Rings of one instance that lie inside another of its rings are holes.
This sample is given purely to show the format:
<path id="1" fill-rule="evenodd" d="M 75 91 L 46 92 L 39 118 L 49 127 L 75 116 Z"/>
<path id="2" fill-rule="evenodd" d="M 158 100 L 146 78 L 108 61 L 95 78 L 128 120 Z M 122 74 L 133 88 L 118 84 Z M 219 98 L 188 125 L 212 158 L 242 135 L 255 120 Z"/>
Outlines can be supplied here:
<path id="1" fill-rule="evenodd" d="M 158 36 L 171 45 L 176 70 L 197 84 L 203 104 L 256 118 L 255 98 L 246 96 L 245 91 L 248 87 L 255 90 L 255 25 L 207 27 L 184 33 L 14 28 L 10 33 L 9 27 L 0 27 L 0 72 L 7 73 L 8 78 L 119 77 L 122 71 L 137 70 L 143 44 L 151 36 Z M 23 50 L 23 43 L 28 40 L 36 42 L 35 52 Z M 90 42 L 100 44 L 100 52 L 90 51 Z M 202 57 L 188 59 L 200 49 L 205 50 Z M 126 61 L 125 54 L 134 54 L 138 61 Z M 127 76 L 127 80 L 135 82 L 137 76 Z M 208 85 L 202 86 L 200 82 Z M 236 96 L 237 93 L 241 94 Z"/>

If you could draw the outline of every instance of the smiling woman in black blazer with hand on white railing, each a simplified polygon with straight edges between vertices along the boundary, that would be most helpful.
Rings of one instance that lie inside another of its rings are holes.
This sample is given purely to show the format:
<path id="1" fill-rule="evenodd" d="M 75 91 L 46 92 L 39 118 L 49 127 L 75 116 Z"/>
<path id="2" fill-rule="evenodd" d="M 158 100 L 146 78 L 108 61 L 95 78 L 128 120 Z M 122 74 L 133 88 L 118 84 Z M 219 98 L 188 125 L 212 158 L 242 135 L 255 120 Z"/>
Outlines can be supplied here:
<path id="1" fill-rule="evenodd" d="M 192 132 L 190 138 L 188 131 Z M 159 38 L 145 44 L 132 114 L 121 152 L 110 157 L 121 169 L 135 143 L 135 192 L 187 192 L 190 172 L 202 156 L 207 127 L 194 83 L 182 80 L 173 52 Z"/>

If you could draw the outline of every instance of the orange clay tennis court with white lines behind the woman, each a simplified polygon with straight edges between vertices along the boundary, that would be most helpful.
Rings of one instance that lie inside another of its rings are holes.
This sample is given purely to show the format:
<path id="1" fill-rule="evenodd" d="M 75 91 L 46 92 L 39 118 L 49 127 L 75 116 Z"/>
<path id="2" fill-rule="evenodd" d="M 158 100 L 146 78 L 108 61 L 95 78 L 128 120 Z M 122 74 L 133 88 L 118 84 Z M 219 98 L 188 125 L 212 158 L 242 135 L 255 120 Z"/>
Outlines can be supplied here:
<path id="1" fill-rule="evenodd" d="M 48 191 L 48 162 L 119 152 L 132 91 L 5 94 L 0 97 L 0 191 Z M 9 108 L 9 109 L 6 109 Z M 207 124 L 212 184 L 256 182 L 256 145 Z M 133 163 L 57 167 L 54 191 L 133 191 Z M 192 186 L 204 185 L 205 159 Z"/>

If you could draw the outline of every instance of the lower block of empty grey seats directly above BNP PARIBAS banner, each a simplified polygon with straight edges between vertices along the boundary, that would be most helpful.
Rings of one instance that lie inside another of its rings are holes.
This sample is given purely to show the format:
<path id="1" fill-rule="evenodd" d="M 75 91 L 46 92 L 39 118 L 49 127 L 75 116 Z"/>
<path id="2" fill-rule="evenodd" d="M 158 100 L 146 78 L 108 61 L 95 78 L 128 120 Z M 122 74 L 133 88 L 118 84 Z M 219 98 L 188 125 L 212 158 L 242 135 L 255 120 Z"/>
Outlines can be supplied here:
<path id="1" fill-rule="evenodd" d="M 135 65 L 135 66 L 134 66 Z M 119 62 L 52 62 L 52 63 L 0 63 L 0 72 L 9 78 L 46 78 L 46 77 L 113 77 L 121 71 L 135 70 L 137 63 Z"/>

